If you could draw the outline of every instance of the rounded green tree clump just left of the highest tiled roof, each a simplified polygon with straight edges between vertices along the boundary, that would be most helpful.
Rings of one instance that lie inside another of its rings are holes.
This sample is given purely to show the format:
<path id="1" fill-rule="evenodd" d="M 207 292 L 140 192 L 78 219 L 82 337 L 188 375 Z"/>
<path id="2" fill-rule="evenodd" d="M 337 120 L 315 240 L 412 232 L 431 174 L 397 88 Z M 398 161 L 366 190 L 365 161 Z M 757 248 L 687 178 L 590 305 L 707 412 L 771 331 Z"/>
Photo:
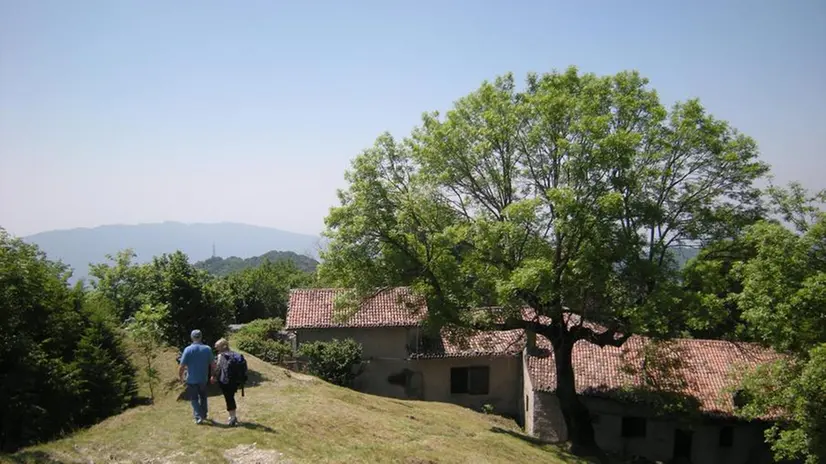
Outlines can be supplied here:
<path id="1" fill-rule="evenodd" d="M 289 261 L 265 261 L 258 267 L 229 275 L 225 285 L 234 306 L 235 322 L 286 318 L 290 289 L 308 286 L 311 281 L 310 274 Z"/>

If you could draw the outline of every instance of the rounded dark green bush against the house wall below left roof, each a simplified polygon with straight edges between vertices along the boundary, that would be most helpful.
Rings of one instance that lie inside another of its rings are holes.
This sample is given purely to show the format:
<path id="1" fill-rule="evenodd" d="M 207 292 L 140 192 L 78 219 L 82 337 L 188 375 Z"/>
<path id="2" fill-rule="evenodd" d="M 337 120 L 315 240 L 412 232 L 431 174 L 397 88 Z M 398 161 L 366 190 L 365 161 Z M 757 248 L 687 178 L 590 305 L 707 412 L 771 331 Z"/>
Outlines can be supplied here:
<path id="1" fill-rule="evenodd" d="M 361 345 L 352 339 L 312 342 L 301 345 L 299 356 L 307 358 L 309 372 L 335 385 L 350 387 L 361 373 Z"/>

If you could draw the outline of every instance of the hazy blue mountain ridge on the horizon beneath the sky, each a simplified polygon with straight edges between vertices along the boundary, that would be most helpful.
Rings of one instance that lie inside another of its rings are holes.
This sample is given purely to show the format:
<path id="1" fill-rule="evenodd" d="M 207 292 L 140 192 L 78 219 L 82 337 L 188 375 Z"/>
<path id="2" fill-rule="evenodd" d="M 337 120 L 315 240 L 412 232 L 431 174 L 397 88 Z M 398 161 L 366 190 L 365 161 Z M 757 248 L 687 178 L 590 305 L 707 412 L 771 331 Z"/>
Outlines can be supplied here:
<path id="1" fill-rule="evenodd" d="M 183 224 L 163 222 L 136 225 L 106 225 L 94 228 L 54 230 L 23 240 L 37 244 L 50 259 L 62 260 L 74 269 L 74 281 L 88 276 L 89 263 L 107 254 L 132 248 L 138 261 L 181 250 L 190 261 L 205 260 L 215 252 L 222 256 L 249 258 L 270 250 L 292 251 L 315 258 L 320 239 L 269 227 L 237 223 Z"/>

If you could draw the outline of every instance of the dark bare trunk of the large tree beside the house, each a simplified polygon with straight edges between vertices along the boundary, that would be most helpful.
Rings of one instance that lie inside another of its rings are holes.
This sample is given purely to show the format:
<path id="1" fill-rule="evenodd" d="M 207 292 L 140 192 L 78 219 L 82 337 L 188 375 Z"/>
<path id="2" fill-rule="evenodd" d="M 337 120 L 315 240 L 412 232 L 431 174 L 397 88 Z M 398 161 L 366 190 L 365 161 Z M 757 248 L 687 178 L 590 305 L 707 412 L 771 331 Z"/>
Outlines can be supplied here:
<path id="1" fill-rule="evenodd" d="M 582 451 L 598 450 L 594 439 L 591 414 L 576 393 L 574 366 L 571 359 L 574 343 L 576 339 L 570 336 L 559 337 L 554 343 L 556 396 L 568 428 L 568 439 L 573 446 Z"/>

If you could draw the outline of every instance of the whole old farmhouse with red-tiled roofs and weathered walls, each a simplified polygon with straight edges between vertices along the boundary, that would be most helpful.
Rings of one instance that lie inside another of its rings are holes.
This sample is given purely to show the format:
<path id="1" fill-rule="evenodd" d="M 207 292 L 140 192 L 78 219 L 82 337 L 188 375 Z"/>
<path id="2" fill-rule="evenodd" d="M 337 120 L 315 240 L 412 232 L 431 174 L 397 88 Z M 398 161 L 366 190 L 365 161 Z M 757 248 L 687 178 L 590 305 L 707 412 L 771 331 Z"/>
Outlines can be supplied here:
<path id="1" fill-rule="evenodd" d="M 339 317 L 334 304 L 343 293 L 293 290 L 286 330 L 296 346 L 336 338 L 361 343 L 365 363 L 355 389 L 477 410 L 490 405 L 529 435 L 549 442 L 567 439 L 554 395 L 553 351 L 544 337 L 509 330 L 453 340 L 443 331 L 432 339 L 422 329 L 426 302 L 409 289 L 381 291 L 355 313 Z M 529 310 L 525 317 L 531 317 Z M 580 341 L 573 363 L 577 391 L 604 450 L 664 462 L 745 464 L 771 462 L 765 424 L 737 420 L 730 390 L 745 367 L 773 356 L 750 344 L 683 339 L 660 346 L 635 336 L 620 348 Z M 667 376 L 656 368 L 664 361 L 672 361 Z M 652 390 L 672 392 L 693 414 L 658 409 Z"/>

